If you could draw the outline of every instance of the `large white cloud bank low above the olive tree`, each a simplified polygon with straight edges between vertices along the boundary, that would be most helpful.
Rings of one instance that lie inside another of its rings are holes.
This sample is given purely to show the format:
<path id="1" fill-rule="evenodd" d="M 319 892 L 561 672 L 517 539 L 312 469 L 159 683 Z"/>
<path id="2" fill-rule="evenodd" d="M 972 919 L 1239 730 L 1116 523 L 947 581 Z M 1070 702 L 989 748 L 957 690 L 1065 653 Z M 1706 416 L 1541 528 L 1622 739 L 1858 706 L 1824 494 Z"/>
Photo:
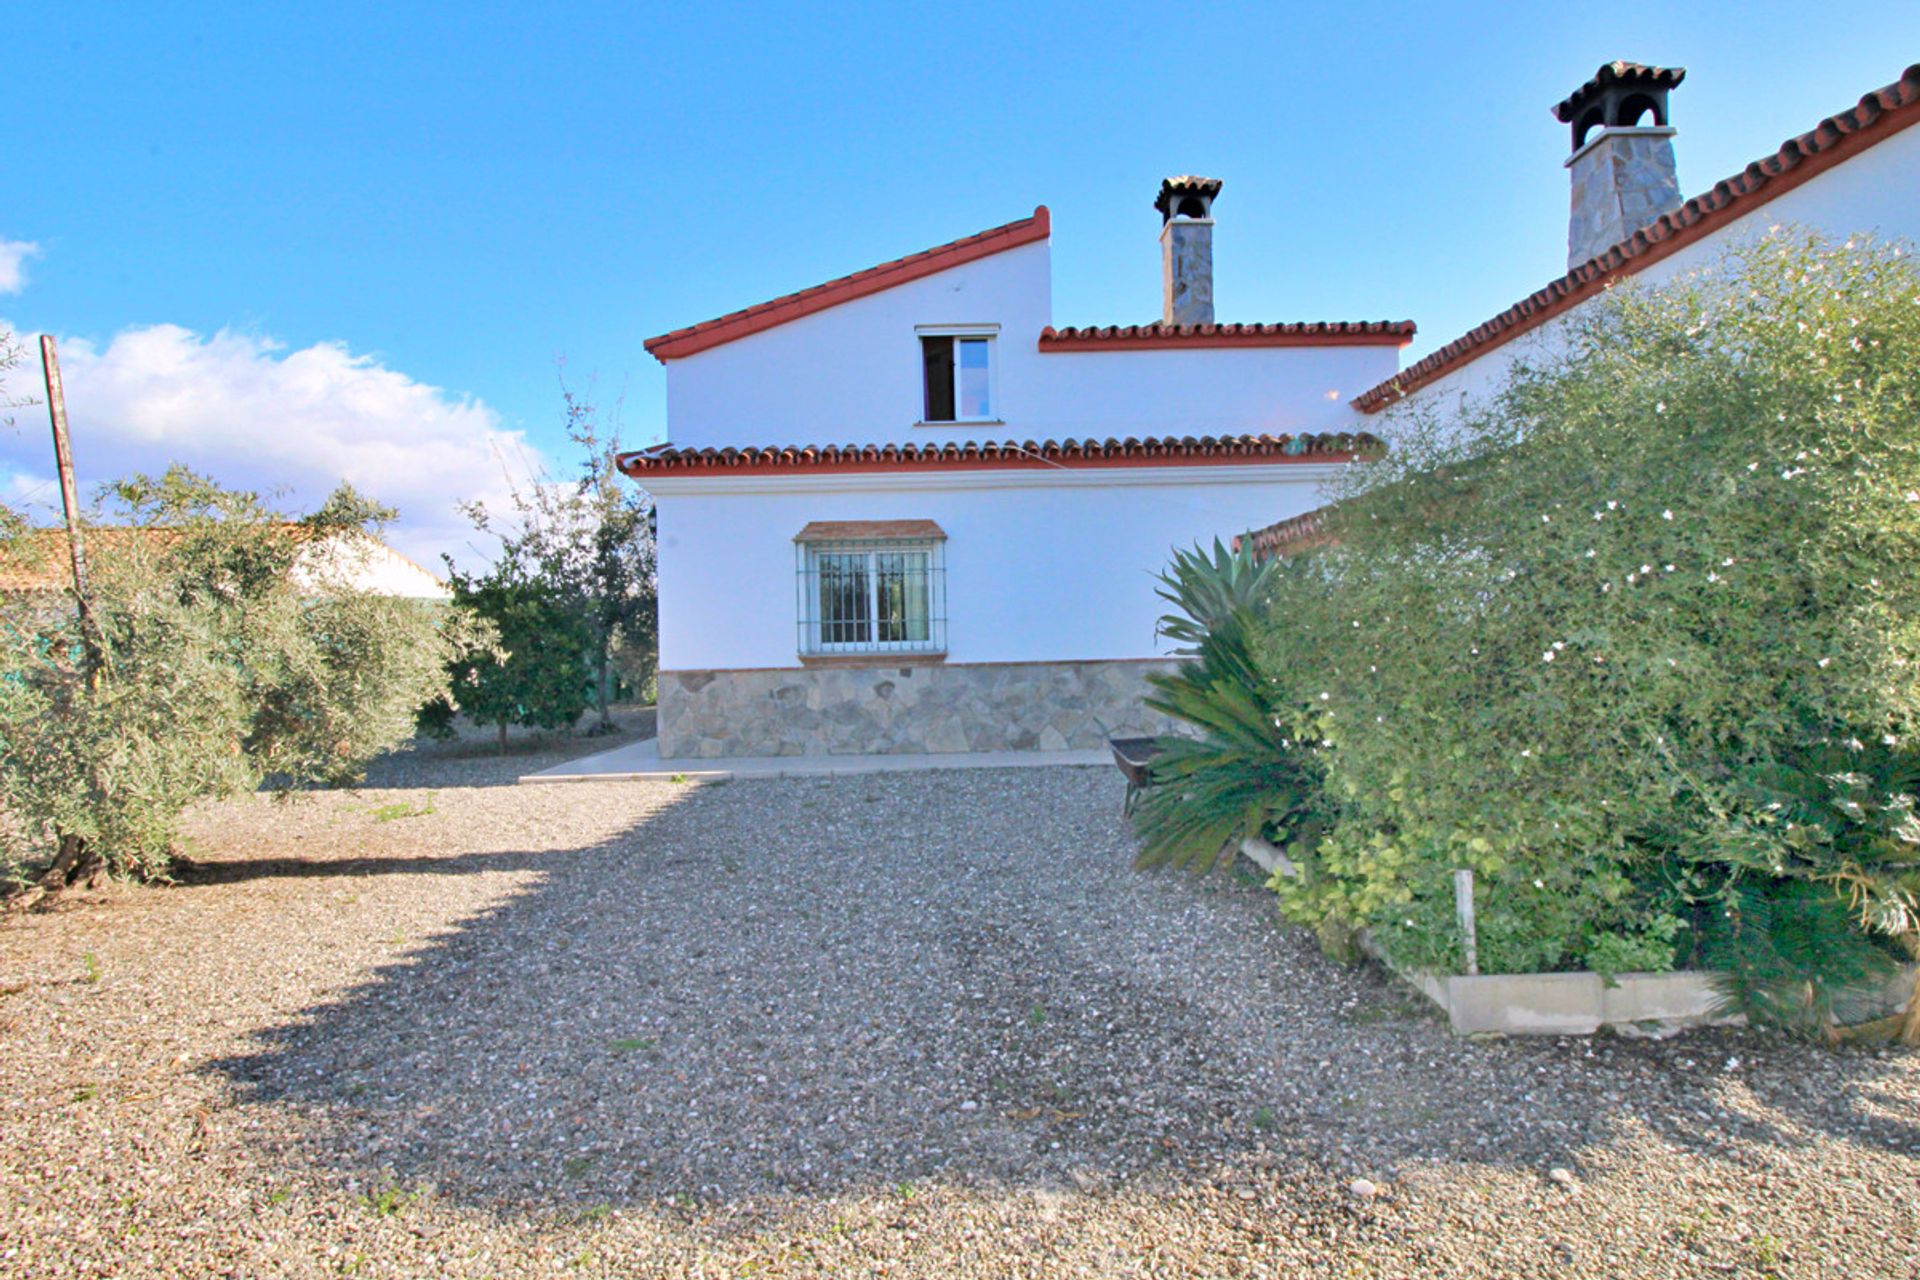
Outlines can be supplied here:
<path id="1" fill-rule="evenodd" d="M 482 401 L 415 382 L 344 344 L 288 351 L 232 330 L 202 338 L 152 324 L 104 347 L 61 338 L 60 368 L 83 491 L 184 462 L 311 509 L 348 480 L 399 509 L 388 541 L 434 572 L 442 551 L 474 560 L 468 547 L 478 539 L 459 503 L 505 510 L 509 468 L 524 476 L 540 464 Z M 13 472 L 15 489 L 23 476 L 52 470 L 44 432 L 31 426 L 21 418 L 0 432 L 0 468 Z M 58 491 L 35 487 L 58 510 Z"/>

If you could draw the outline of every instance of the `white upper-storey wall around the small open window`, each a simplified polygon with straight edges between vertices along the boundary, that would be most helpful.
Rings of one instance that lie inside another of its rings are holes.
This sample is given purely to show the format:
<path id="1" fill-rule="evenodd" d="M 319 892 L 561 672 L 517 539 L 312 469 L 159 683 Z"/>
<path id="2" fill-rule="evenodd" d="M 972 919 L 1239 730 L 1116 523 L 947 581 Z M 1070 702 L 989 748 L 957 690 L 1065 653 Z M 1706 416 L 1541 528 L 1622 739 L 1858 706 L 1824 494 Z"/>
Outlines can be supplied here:
<path id="1" fill-rule="evenodd" d="M 1398 368 L 1394 345 L 1041 353 L 1048 263 L 1046 242 L 1021 246 L 668 361 L 668 438 L 724 447 L 1325 432 Z M 920 324 L 1000 326 L 998 424 L 916 426 Z"/>

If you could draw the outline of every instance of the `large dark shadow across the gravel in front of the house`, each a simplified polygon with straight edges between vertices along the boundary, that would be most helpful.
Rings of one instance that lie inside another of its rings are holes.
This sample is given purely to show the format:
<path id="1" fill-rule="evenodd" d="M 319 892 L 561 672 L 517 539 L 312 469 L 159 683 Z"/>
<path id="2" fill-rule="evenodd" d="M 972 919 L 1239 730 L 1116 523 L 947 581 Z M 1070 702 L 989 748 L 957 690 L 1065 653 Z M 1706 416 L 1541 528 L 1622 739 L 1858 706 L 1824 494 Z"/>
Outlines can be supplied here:
<path id="1" fill-rule="evenodd" d="M 1092 770 L 778 779 L 426 860 L 543 877 L 213 1069 L 298 1117 L 275 1157 L 490 1207 L 1544 1171 L 1626 1128 L 1920 1153 L 1907 1059 L 1455 1040 L 1261 890 L 1131 871 L 1117 810 Z"/>

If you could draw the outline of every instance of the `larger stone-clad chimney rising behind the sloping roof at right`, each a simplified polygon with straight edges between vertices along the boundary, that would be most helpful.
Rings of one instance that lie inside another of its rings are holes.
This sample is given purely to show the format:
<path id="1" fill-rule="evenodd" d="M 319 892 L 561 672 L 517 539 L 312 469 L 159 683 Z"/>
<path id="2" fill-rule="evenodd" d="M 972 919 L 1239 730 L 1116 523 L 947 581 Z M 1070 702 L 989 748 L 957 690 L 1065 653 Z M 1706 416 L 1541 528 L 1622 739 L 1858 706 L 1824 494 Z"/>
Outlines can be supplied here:
<path id="1" fill-rule="evenodd" d="M 1684 79 L 1686 67 L 1609 61 L 1553 107 L 1572 127 L 1567 271 L 1680 207 L 1667 90 Z"/>

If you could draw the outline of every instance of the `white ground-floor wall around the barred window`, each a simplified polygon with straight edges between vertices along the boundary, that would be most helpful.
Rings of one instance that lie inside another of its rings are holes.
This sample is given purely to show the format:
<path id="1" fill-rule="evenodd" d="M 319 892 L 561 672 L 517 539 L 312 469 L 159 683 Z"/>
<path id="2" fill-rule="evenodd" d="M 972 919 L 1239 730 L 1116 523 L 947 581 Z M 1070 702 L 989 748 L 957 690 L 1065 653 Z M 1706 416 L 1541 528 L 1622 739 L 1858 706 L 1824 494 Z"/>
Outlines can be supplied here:
<path id="1" fill-rule="evenodd" d="M 660 666 L 797 666 L 793 535 L 810 520 L 914 518 L 948 539 L 948 662 L 1150 658 L 1164 652 L 1154 574 L 1169 553 L 1317 507 L 1329 470 L 1108 468 L 1100 484 L 1077 484 L 1085 472 L 843 476 L 831 489 L 733 480 L 732 493 L 666 480 L 655 491 Z"/>

